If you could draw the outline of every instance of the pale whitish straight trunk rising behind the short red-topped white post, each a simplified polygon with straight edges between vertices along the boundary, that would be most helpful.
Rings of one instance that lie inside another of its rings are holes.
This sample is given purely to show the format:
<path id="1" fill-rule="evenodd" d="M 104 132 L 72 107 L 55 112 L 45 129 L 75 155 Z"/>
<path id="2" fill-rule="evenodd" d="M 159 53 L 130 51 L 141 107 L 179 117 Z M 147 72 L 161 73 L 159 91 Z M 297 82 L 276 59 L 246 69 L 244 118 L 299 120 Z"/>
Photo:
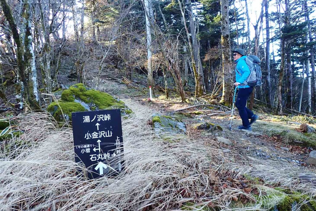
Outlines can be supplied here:
<path id="1" fill-rule="evenodd" d="M 154 86 L 153 70 L 151 66 L 151 57 L 152 57 L 152 42 L 151 42 L 151 21 L 152 17 L 150 14 L 151 0 L 144 0 L 145 4 L 145 15 L 146 15 L 146 34 L 147 34 L 147 71 L 148 71 L 148 85 Z"/>

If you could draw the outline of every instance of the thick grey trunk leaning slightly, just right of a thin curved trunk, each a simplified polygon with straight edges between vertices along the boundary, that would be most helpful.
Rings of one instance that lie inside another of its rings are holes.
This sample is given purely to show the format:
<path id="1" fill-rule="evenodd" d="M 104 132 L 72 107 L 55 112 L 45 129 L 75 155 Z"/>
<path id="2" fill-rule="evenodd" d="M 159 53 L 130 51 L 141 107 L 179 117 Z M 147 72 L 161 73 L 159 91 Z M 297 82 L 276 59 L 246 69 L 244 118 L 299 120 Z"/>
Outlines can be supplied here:
<path id="1" fill-rule="evenodd" d="M 190 20 L 190 32 L 191 32 L 191 39 L 193 43 L 194 60 L 195 60 L 195 64 L 197 65 L 197 72 L 198 72 L 200 85 L 203 86 L 199 88 L 199 95 L 202 95 L 203 91 L 205 90 L 204 72 L 203 72 L 202 62 L 200 58 L 200 48 L 197 42 L 196 24 L 193 20 L 191 0 L 186 0 L 186 5 L 188 7 L 188 15 L 189 15 L 189 20 Z"/>

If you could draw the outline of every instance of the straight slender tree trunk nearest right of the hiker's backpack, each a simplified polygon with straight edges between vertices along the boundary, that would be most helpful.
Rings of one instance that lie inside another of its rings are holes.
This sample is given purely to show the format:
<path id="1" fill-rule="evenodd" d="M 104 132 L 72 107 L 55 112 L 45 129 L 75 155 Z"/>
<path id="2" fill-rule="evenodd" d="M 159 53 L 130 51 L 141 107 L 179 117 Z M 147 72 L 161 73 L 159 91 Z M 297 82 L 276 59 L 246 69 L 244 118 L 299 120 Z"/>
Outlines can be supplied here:
<path id="1" fill-rule="evenodd" d="M 266 30 L 266 46 L 265 46 L 265 70 L 267 71 L 265 99 L 267 106 L 272 108 L 271 81 L 270 81 L 270 24 L 269 24 L 269 2 L 265 1 L 265 30 Z"/>

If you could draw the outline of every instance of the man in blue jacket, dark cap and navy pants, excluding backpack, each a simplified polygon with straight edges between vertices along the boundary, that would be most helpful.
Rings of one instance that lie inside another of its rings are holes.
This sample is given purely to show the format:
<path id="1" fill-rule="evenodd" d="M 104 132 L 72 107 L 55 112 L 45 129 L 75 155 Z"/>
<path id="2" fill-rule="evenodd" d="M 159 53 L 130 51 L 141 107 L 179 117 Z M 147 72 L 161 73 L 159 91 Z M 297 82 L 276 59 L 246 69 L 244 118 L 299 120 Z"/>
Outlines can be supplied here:
<path id="1" fill-rule="evenodd" d="M 259 117 L 246 107 L 247 99 L 253 90 L 253 87 L 244 84 L 244 82 L 250 75 L 250 70 L 248 65 L 246 64 L 245 51 L 243 49 L 236 48 L 233 53 L 234 61 L 236 62 L 236 82 L 234 83 L 234 85 L 238 86 L 238 95 L 235 105 L 238 109 L 240 118 L 242 119 L 242 125 L 238 126 L 238 129 L 251 131 L 251 124 L 254 123 Z"/>

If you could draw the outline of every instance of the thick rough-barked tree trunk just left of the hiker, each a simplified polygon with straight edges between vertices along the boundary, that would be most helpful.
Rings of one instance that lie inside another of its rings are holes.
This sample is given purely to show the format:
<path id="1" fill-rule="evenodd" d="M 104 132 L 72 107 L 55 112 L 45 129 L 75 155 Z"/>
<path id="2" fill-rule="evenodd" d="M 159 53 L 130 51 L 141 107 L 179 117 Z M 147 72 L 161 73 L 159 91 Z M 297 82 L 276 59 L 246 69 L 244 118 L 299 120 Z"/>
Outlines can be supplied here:
<path id="1" fill-rule="evenodd" d="M 222 102 L 226 106 L 232 104 L 233 95 L 233 71 L 231 65 L 231 49 L 229 36 L 229 1 L 221 0 L 221 14 L 222 14 L 222 71 L 223 71 L 223 95 Z"/>

